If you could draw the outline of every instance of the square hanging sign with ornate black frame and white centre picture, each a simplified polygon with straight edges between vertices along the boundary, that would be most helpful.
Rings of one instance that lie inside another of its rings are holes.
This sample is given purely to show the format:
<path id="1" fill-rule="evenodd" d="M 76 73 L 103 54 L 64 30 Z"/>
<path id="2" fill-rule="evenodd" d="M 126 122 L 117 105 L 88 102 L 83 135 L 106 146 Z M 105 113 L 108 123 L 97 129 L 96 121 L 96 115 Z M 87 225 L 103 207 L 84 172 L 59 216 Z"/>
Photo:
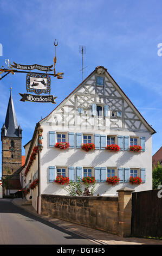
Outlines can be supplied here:
<path id="1" fill-rule="evenodd" d="M 28 74 L 26 78 L 27 92 L 50 94 L 50 76 L 47 74 Z"/>

